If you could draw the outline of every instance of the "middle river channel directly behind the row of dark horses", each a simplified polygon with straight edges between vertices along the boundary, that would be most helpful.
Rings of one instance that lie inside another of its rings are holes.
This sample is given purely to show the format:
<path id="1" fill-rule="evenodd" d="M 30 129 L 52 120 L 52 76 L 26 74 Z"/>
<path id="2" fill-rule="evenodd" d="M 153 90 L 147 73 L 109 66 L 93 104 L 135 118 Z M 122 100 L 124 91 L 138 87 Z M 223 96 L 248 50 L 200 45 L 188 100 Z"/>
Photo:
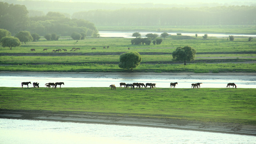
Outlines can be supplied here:
<path id="1" fill-rule="evenodd" d="M 64 82 L 63 87 L 109 87 L 120 82 L 156 83 L 156 88 L 191 88 L 192 83 L 202 83 L 201 88 L 226 88 L 234 82 L 238 88 L 256 88 L 256 74 L 221 73 L 90 73 L 90 72 L 0 72 L 0 87 L 21 87 L 21 82 L 38 82 L 40 87 L 49 82 Z M 29 87 L 32 85 L 29 84 Z"/>

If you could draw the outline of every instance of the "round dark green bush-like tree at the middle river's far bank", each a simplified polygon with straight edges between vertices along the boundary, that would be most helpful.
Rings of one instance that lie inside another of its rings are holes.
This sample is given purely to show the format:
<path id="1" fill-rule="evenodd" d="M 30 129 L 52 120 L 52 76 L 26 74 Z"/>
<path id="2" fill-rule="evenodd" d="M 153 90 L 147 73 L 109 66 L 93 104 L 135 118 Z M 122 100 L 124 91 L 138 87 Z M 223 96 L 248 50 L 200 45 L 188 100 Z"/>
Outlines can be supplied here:
<path id="1" fill-rule="evenodd" d="M 133 68 L 139 66 L 142 61 L 142 57 L 138 52 L 126 52 L 121 54 L 119 59 L 120 63 L 118 66 L 126 70 L 133 70 Z"/>

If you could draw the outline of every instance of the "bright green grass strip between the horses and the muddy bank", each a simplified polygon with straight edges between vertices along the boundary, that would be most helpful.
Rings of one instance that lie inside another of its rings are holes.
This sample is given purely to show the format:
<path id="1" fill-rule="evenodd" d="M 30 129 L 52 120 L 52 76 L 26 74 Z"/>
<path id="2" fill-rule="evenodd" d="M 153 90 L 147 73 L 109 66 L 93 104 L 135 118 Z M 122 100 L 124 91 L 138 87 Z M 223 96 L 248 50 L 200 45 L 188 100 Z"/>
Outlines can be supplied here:
<path id="1" fill-rule="evenodd" d="M 0 109 L 99 112 L 256 125 L 256 90 L 0 87 Z"/>

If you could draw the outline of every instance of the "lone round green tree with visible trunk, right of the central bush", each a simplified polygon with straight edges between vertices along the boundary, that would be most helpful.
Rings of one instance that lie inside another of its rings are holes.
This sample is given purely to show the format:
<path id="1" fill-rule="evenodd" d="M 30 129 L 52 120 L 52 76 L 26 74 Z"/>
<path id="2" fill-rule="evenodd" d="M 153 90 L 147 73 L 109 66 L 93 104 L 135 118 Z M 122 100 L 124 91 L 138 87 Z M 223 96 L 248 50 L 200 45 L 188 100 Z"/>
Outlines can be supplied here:
<path id="1" fill-rule="evenodd" d="M 195 60 L 196 50 L 191 48 L 190 46 L 184 46 L 176 48 L 174 52 L 172 52 L 172 58 L 174 61 L 184 61 L 184 65 L 186 65 L 186 61 Z"/>

